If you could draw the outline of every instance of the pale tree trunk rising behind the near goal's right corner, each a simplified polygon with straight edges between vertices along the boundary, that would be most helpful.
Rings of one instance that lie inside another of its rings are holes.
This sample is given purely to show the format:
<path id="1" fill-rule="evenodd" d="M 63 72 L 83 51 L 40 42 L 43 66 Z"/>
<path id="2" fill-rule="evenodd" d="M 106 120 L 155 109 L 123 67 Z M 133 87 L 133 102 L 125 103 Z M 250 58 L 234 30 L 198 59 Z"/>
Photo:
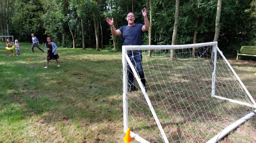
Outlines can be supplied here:
<path id="1" fill-rule="evenodd" d="M 218 0 L 218 6 L 217 6 L 217 14 L 216 14 L 216 20 L 215 20 L 215 35 L 214 35 L 214 40 L 213 42 L 218 42 L 219 39 L 219 35 L 220 35 L 220 12 L 221 12 L 221 1 L 222 0 Z M 214 48 L 212 48 L 212 52 L 211 52 L 211 60 L 213 61 L 213 52 Z"/>

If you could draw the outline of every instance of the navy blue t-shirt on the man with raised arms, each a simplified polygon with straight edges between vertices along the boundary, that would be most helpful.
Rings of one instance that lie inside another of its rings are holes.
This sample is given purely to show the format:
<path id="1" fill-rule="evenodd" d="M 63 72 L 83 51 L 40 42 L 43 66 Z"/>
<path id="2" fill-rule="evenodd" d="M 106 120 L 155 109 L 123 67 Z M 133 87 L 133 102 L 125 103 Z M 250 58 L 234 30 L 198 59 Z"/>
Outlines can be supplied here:
<path id="1" fill-rule="evenodd" d="M 142 45 L 142 29 L 143 24 L 135 24 L 133 26 L 125 25 L 119 30 L 122 33 L 123 45 Z M 135 50 L 133 55 L 141 54 L 141 50 Z M 132 51 L 127 51 L 127 54 L 132 54 Z"/>

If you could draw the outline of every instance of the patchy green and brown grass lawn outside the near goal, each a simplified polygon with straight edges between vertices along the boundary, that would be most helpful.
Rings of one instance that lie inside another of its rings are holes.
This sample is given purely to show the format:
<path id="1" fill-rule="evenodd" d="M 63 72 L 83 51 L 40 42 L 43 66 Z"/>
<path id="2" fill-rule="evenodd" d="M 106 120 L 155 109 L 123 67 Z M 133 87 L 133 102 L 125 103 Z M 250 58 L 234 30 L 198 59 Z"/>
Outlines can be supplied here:
<path id="1" fill-rule="evenodd" d="M 19 44 L 20 56 L 0 48 L 0 143 L 124 142 L 120 52 L 58 48 L 60 67 L 44 69 L 47 52 Z M 256 100 L 256 62 L 229 62 Z M 253 117 L 219 142 L 256 142 L 255 125 Z"/>

